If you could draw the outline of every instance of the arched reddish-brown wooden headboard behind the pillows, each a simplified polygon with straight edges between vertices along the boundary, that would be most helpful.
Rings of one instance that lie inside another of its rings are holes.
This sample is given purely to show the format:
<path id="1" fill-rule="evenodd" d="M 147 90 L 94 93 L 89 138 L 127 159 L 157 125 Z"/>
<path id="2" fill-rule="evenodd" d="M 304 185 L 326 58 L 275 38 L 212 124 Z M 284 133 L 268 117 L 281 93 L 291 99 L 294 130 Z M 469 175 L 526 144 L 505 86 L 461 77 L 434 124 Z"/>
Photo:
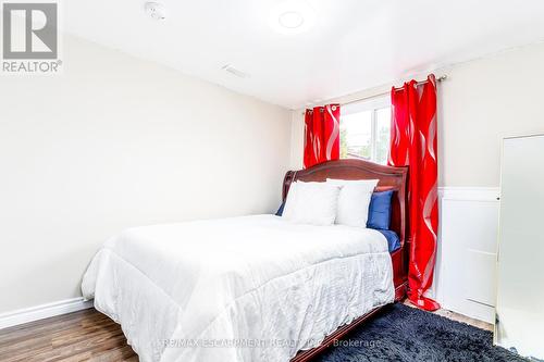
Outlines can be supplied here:
<path id="1" fill-rule="evenodd" d="M 287 197 L 294 180 L 324 182 L 326 178 L 379 179 L 378 190 L 394 190 L 391 229 L 398 234 L 404 246 L 407 234 L 406 179 L 408 167 L 392 167 L 363 160 L 329 161 L 300 171 L 289 171 L 283 180 L 283 200 Z"/>

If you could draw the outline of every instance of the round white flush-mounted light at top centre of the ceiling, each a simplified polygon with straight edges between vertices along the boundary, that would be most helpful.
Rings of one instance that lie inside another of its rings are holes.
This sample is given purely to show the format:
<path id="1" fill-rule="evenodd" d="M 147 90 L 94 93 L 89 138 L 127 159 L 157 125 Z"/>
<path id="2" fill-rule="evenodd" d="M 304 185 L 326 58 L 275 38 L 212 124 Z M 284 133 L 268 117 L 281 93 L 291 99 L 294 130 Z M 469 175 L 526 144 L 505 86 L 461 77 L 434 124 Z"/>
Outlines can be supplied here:
<path id="1" fill-rule="evenodd" d="M 269 25 L 280 34 L 293 35 L 309 30 L 316 22 L 313 9 L 305 0 L 285 0 L 270 12 Z"/>

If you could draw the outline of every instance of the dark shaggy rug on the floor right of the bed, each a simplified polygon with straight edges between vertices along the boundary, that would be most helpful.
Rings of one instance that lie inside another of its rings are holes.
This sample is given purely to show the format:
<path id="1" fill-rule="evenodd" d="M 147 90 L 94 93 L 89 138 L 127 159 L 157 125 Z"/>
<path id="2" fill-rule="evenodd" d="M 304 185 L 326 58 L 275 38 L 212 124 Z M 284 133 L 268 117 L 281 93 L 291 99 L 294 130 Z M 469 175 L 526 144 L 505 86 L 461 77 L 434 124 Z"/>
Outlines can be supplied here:
<path id="1" fill-rule="evenodd" d="M 395 303 L 364 322 L 317 361 L 527 361 L 493 346 L 489 330 Z"/>

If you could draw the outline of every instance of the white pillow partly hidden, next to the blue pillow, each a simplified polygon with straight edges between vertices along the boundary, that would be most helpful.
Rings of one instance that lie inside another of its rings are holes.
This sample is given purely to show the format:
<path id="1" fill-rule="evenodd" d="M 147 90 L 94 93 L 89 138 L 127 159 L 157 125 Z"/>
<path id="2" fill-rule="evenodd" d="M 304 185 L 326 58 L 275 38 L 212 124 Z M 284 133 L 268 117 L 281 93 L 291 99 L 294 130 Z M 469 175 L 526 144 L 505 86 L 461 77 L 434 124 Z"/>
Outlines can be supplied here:
<path id="1" fill-rule="evenodd" d="M 378 179 L 326 179 L 327 184 L 342 186 L 336 210 L 336 224 L 367 227 L 369 205 Z"/>

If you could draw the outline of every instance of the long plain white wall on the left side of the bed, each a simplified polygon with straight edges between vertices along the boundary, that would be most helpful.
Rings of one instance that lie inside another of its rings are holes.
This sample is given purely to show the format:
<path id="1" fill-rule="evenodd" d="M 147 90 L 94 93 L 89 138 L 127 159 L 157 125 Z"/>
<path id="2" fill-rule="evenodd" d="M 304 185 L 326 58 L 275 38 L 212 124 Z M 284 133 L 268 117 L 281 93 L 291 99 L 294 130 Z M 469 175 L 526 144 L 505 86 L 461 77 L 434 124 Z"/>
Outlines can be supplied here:
<path id="1" fill-rule="evenodd" d="M 0 312 L 79 296 L 121 229 L 275 211 L 290 112 L 67 37 L 0 79 Z"/>

